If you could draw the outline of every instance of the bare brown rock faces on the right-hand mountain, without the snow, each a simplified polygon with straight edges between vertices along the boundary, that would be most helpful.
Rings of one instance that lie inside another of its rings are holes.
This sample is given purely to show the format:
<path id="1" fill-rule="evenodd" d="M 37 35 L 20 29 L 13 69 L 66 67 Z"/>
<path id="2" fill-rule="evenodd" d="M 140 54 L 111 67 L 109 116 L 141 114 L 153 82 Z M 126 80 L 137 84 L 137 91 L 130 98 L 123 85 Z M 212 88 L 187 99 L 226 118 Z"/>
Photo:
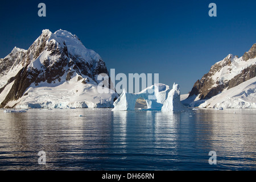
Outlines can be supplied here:
<path id="1" fill-rule="evenodd" d="M 256 57 L 256 44 L 251 47 L 250 51 L 246 52 L 245 55 L 243 55 L 242 59 L 240 61 L 248 61 L 249 59 L 254 59 Z M 214 80 L 213 77 L 218 72 L 222 72 L 222 68 L 228 67 L 228 71 L 230 71 L 230 74 L 232 73 L 232 67 L 230 66 L 232 64 L 232 60 L 238 57 L 233 57 L 232 55 L 228 55 L 224 60 L 214 64 L 210 71 L 205 74 L 201 80 L 197 80 L 195 84 L 193 85 L 193 88 L 191 92 L 189 93 L 188 97 L 191 97 L 193 95 L 198 96 L 200 100 L 208 99 L 213 96 L 216 96 L 218 93 L 222 92 L 224 89 L 230 89 L 234 86 L 237 86 L 241 84 L 242 82 L 245 82 L 249 80 L 250 78 L 255 77 L 256 72 L 256 65 L 250 65 L 249 67 L 243 69 L 240 73 L 235 75 L 230 80 Z"/>

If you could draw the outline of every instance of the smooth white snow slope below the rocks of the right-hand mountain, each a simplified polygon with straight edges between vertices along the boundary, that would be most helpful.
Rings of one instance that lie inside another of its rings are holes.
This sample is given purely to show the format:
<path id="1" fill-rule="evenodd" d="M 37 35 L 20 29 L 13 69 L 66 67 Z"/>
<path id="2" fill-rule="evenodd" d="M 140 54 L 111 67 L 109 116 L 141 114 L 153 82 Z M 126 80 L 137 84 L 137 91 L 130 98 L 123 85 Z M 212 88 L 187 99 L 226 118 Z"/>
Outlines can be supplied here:
<path id="1" fill-rule="evenodd" d="M 256 109 L 256 77 L 205 101 L 199 107 Z"/>

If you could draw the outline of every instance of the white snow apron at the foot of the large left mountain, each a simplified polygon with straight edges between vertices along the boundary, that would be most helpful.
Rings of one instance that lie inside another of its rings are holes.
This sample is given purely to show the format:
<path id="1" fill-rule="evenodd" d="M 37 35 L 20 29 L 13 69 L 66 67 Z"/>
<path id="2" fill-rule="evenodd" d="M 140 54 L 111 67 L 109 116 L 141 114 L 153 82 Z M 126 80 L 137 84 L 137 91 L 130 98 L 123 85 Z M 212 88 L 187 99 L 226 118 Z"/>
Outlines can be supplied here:
<path id="1" fill-rule="evenodd" d="M 7 107 L 15 108 L 102 108 L 113 107 L 118 94 L 98 93 L 97 84 L 90 79 L 86 84 L 75 75 L 69 81 L 60 84 L 32 84 L 24 95 L 16 101 L 10 101 Z M 108 88 L 105 88 L 108 89 Z"/>

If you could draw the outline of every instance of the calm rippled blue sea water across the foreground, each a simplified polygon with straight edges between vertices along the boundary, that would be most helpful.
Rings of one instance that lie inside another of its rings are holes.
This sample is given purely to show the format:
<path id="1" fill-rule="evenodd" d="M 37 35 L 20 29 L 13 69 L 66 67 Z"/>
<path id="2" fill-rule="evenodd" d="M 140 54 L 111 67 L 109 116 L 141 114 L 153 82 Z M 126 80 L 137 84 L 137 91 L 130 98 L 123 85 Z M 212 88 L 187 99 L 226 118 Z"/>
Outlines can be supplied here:
<path id="1" fill-rule="evenodd" d="M 255 170 L 255 111 L 0 110 L 0 169 Z"/>

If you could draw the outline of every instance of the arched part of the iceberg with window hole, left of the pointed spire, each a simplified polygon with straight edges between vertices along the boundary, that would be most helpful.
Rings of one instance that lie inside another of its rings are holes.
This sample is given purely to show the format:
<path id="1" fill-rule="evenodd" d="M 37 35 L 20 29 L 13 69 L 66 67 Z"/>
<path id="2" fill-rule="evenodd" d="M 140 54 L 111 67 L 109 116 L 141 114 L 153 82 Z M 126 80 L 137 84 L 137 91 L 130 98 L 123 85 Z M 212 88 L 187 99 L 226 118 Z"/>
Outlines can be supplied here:
<path id="1" fill-rule="evenodd" d="M 136 94 L 126 93 L 123 89 L 121 96 L 113 104 L 113 111 L 134 110 L 137 99 L 141 97 L 146 101 L 147 110 L 161 110 L 168 92 L 170 88 L 165 84 L 154 84 Z"/>

